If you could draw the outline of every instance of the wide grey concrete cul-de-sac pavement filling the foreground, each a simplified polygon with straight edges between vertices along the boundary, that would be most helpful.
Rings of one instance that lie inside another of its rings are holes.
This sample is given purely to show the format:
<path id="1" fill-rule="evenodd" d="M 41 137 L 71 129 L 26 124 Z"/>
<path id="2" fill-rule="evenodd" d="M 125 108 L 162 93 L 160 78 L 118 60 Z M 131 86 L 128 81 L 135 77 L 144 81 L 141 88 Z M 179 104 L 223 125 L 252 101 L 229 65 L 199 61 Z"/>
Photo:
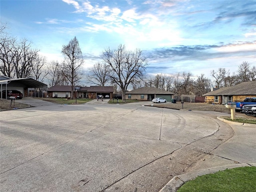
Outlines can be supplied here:
<path id="1" fill-rule="evenodd" d="M 234 134 L 217 112 L 100 102 L 0 112 L 1 191 L 158 192 Z"/>

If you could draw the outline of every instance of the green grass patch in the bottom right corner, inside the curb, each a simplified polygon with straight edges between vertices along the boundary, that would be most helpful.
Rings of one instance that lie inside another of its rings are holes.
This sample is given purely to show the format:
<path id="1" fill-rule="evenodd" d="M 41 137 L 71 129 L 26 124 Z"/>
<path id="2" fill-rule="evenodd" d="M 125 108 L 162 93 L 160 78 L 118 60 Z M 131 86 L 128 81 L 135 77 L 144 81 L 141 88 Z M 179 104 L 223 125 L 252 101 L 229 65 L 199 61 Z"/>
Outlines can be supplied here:
<path id="1" fill-rule="evenodd" d="M 186 182 L 177 192 L 255 192 L 256 167 L 226 169 Z"/>

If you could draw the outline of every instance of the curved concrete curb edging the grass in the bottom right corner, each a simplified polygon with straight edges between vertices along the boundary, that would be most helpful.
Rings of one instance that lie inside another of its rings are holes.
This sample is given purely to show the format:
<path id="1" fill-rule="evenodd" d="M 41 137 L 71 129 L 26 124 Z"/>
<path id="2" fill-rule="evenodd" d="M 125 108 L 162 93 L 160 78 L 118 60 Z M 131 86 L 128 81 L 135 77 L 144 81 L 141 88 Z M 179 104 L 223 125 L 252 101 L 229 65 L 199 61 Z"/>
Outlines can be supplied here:
<path id="1" fill-rule="evenodd" d="M 176 192 L 185 182 L 195 179 L 198 176 L 216 173 L 218 171 L 223 171 L 226 169 L 232 169 L 236 167 L 246 167 L 246 166 L 256 166 L 255 163 L 252 164 L 231 164 L 220 167 L 212 167 L 203 170 L 198 170 L 194 172 L 188 172 L 182 175 L 175 176 L 172 178 L 159 192 Z"/>

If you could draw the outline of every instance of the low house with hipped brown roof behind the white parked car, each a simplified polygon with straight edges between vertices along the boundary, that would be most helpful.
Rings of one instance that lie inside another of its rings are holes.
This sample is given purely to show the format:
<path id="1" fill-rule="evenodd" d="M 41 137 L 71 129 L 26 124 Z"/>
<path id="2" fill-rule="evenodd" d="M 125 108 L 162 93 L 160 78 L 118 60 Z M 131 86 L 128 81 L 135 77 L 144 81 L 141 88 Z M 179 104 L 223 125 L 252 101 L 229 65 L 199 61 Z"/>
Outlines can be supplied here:
<path id="1" fill-rule="evenodd" d="M 125 93 L 126 100 L 152 100 L 157 97 L 162 97 L 166 101 L 171 102 L 175 93 L 168 92 L 155 87 L 142 87 Z"/>

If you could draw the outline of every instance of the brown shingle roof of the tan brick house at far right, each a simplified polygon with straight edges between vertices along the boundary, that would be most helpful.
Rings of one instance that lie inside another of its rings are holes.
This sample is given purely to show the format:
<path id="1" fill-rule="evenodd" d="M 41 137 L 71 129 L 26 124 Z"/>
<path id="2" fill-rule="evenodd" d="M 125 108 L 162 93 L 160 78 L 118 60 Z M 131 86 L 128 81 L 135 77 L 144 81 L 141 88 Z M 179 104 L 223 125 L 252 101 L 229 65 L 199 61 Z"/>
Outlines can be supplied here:
<path id="1" fill-rule="evenodd" d="M 222 87 L 203 96 L 214 95 L 256 95 L 256 81 L 242 82 L 232 87 Z"/>

